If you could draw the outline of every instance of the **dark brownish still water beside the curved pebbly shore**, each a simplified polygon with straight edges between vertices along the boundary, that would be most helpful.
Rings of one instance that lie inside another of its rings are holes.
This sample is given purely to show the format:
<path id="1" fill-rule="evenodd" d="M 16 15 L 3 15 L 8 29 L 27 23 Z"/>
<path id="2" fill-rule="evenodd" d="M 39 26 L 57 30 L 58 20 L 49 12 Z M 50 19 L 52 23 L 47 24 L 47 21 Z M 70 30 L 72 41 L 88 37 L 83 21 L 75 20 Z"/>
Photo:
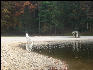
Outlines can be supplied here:
<path id="1" fill-rule="evenodd" d="M 93 42 L 48 44 L 47 48 L 43 47 L 33 48 L 33 51 L 65 61 L 69 65 L 68 70 L 93 70 Z"/>

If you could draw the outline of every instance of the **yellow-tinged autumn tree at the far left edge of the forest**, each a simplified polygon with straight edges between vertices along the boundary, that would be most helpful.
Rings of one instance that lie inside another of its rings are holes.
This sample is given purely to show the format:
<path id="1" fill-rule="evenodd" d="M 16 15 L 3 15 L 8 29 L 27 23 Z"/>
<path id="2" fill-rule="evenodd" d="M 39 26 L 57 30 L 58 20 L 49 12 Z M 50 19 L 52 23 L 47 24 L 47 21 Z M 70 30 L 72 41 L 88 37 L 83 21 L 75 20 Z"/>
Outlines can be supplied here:
<path id="1" fill-rule="evenodd" d="M 1 1 L 1 28 L 2 31 L 7 32 L 11 30 L 11 28 L 15 28 L 14 20 L 14 2 L 11 1 Z"/>

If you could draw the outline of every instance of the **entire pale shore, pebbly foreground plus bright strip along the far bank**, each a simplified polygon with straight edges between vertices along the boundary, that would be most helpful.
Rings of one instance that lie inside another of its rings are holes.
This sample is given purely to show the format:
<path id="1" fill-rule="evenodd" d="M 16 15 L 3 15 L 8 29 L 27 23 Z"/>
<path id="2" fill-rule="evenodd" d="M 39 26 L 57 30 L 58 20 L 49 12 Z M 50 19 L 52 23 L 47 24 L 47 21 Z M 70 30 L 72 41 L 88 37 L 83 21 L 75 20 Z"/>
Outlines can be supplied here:
<path id="1" fill-rule="evenodd" d="M 44 41 L 90 41 L 93 36 L 31 36 L 31 41 L 42 44 Z M 63 60 L 58 60 L 36 52 L 29 52 L 25 48 L 26 37 L 1 37 L 1 69 L 2 70 L 68 70 Z M 44 42 L 44 44 L 46 43 Z M 46 43 L 47 44 L 47 43 Z"/>

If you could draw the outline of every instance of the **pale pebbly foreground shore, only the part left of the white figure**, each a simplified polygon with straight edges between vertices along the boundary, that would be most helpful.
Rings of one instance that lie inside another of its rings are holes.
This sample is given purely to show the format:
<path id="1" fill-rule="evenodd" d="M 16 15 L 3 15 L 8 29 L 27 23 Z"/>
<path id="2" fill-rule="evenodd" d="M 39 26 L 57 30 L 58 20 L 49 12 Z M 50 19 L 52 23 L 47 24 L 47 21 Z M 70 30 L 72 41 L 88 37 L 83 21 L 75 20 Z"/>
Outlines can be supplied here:
<path id="1" fill-rule="evenodd" d="M 25 37 L 1 37 L 1 70 L 67 70 L 68 65 L 58 59 L 36 52 L 28 52 Z"/>

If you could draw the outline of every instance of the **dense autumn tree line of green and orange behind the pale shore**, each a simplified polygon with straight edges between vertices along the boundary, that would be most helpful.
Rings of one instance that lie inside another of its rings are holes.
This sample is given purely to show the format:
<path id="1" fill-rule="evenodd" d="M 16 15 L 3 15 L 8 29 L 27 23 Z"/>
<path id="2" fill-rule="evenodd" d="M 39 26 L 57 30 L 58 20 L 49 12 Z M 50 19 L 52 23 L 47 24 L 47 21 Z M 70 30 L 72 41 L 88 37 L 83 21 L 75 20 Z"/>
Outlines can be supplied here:
<path id="1" fill-rule="evenodd" d="M 92 22 L 79 1 L 1 1 L 2 34 L 92 32 Z"/>

